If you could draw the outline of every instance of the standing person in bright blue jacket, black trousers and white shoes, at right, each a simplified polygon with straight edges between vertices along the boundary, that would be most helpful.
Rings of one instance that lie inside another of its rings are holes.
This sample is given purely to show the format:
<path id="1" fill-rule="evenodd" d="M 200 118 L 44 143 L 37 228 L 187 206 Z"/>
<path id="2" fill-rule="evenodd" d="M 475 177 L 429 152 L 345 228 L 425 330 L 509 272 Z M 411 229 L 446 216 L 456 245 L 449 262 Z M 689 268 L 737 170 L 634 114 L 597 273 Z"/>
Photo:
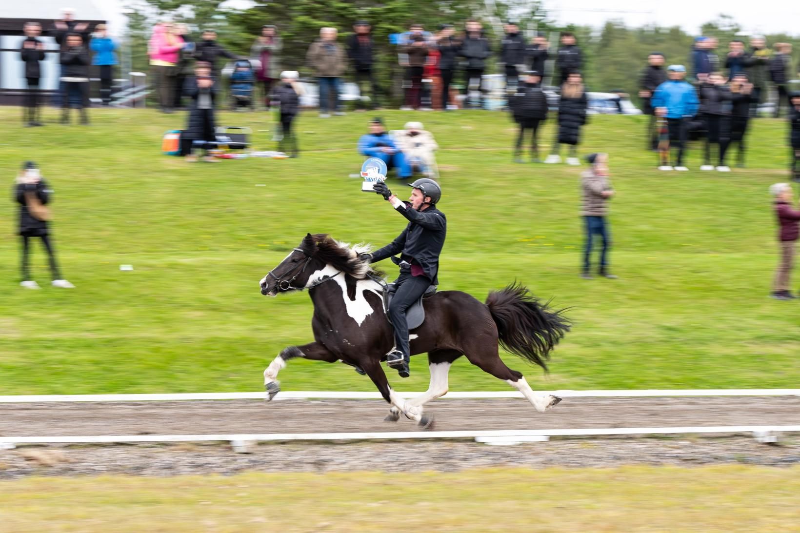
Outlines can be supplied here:
<path id="1" fill-rule="evenodd" d="M 698 112 L 700 100 L 694 86 L 683 79 L 686 77 L 685 66 L 670 65 L 666 71 L 668 79 L 656 88 L 650 104 L 659 117 L 666 117 L 670 147 L 678 149 L 674 170 L 689 170 L 683 164 L 686 132 L 689 120 Z M 673 167 L 659 166 L 658 169 L 673 170 Z"/>

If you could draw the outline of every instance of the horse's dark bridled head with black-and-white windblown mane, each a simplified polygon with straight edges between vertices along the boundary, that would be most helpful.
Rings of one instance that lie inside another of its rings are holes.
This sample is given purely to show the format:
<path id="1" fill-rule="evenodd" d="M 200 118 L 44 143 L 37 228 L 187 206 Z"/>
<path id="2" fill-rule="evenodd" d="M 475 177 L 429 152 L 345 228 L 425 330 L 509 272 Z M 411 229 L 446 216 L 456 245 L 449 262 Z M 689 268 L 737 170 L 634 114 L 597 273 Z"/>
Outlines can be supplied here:
<path id="1" fill-rule="evenodd" d="M 326 234 L 306 234 L 300 246 L 261 279 L 258 283 L 261 294 L 274 296 L 313 287 L 314 283 L 337 273 L 363 279 L 370 265 L 358 255 L 366 251 L 365 246 L 350 247 Z"/>

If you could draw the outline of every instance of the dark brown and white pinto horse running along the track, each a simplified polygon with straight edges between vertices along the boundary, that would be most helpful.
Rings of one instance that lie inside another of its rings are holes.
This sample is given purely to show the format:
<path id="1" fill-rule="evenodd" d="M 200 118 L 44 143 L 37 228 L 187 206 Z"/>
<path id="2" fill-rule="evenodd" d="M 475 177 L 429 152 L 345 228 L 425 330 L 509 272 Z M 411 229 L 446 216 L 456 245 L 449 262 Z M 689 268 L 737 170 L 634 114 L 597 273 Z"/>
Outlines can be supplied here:
<path id="1" fill-rule="evenodd" d="M 326 234 L 306 234 L 300 246 L 261 280 L 262 295 L 308 289 L 314 303 L 314 343 L 284 348 L 270 363 L 264 371 L 268 399 L 280 391 L 278 371 L 289 359 L 341 360 L 362 368 L 391 404 L 387 421 L 398 420 L 402 413 L 428 429 L 433 419 L 422 414 L 422 405 L 446 394 L 450 365 L 465 355 L 482 371 L 521 391 L 539 412 L 561 401 L 532 391 L 522 374 L 506 367 L 498 355 L 500 345 L 546 371 L 550 351 L 570 329 L 563 310 L 550 311 L 516 283 L 491 292 L 486 303 L 461 291 L 427 297 L 425 322 L 410 331 L 410 347 L 411 355 L 428 353 L 430 387 L 408 401 L 398 396 L 381 367 L 394 346 L 393 329 L 383 311 L 383 286 L 368 276 L 373 272 L 370 264 L 358 258 L 369 251 Z"/>

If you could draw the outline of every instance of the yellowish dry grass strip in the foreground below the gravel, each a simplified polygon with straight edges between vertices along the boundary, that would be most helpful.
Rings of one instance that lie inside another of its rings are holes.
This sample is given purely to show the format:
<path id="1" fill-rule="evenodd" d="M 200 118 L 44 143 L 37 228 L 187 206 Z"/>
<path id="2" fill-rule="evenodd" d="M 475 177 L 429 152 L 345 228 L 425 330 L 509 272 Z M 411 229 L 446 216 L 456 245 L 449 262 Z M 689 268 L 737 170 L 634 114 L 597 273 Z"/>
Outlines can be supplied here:
<path id="1" fill-rule="evenodd" d="M 3 531 L 800 531 L 798 468 L 0 482 Z"/>

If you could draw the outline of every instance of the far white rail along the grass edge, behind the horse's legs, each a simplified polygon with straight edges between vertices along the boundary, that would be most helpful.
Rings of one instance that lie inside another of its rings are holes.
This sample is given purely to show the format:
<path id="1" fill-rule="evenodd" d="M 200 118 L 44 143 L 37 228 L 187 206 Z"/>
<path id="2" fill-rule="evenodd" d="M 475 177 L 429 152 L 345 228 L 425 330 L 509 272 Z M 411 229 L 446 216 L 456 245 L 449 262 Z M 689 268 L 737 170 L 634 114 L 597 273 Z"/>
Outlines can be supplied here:
<path id="1" fill-rule="evenodd" d="M 670 396 L 800 396 L 800 389 L 649 389 L 638 391 L 543 391 L 561 398 L 638 398 Z M 410 398 L 422 392 L 400 392 Z M 185 400 L 265 399 L 266 392 L 201 392 L 147 395 L 7 395 L 0 403 L 40 402 L 166 402 Z M 448 392 L 444 399 L 522 398 L 518 391 Z M 283 399 L 382 399 L 378 391 L 282 391 L 274 397 Z"/>

